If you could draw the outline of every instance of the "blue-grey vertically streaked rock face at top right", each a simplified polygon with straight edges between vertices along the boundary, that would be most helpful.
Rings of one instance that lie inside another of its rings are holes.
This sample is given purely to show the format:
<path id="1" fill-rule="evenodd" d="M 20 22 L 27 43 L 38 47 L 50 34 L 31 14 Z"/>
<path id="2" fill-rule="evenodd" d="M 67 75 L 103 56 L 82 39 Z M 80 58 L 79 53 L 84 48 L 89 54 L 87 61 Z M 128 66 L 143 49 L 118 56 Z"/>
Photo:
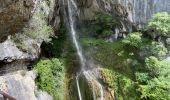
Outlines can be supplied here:
<path id="1" fill-rule="evenodd" d="M 128 13 L 128 19 L 136 25 L 144 25 L 156 12 L 169 12 L 169 0 L 113 0 L 121 4 Z"/>

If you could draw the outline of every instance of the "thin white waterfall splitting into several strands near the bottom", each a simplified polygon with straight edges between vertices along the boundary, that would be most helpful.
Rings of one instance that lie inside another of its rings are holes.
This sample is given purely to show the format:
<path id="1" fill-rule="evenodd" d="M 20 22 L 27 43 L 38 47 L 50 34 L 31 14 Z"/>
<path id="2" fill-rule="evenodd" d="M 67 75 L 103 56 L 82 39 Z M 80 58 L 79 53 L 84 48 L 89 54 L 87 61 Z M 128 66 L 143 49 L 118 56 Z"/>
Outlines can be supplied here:
<path id="1" fill-rule="evenodd" d="M 74 26 L 75 26 L 74 25 L 75 24 L 75 15 L 76 15 L 76 13 L 78 11 L 77 5 L 76 5 L 74 0 L 67 0 L 67 5 L 68 5 L 68 16 L 69 16 L 68 21 L 69 21 L 70 33 L 71 33 L 71 36 L 72 36 L 73 43 L 74 43 L 74 45 L 76 47 L 77 54 L 78 54 L 78 57 L 80 59 L 80 64 L 81 64 L 81 70 L 76 75 L 76 86 L 77 86 L 77 90 L 78 90 L 79 100 L 82 100 L 82 94 L 81 94 L 80 85 L 79 85 L 79 77 L 80 77 L 80 75 L 84 75 L 88 82 L 93 83 L 93 85 L 92 85 L 92 87 L 93 87 L 93 99 L 94 100 L 97 99 L 96 93 L 94 92 L 95 91 L 94 84 L 95 84 L 100 90 L 100 100 L 103 100 L 104 99 L 103 87 L 97 81 L 96 76 L 94 75 L 94 73 L 92 71 L 89 71 L 86 68 L 87 67 L 87 65 L 86 65 L 87 61 L 83 56 L 81 47 L 80 47 L 80 45 L 78 43 L 78 40 L 77 40 L 77 34 L 76 34 L 76 30 L 74 28 Z"/>

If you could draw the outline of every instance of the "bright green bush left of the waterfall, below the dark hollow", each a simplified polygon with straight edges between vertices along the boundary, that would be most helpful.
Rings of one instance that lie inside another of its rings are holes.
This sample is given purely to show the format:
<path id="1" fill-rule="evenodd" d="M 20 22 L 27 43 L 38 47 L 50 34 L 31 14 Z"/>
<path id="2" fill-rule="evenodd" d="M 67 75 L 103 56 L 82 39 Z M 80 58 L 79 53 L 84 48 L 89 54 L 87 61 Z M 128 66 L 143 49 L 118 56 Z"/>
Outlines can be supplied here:
<path id="1" fill-rule="evenodd" d="M 36 85 L 39 89 L 48 92 L 54 100 L 64 97 L 64 66 L 58 59 L 40 60 L 35 65 L 37 71 Z"/>

